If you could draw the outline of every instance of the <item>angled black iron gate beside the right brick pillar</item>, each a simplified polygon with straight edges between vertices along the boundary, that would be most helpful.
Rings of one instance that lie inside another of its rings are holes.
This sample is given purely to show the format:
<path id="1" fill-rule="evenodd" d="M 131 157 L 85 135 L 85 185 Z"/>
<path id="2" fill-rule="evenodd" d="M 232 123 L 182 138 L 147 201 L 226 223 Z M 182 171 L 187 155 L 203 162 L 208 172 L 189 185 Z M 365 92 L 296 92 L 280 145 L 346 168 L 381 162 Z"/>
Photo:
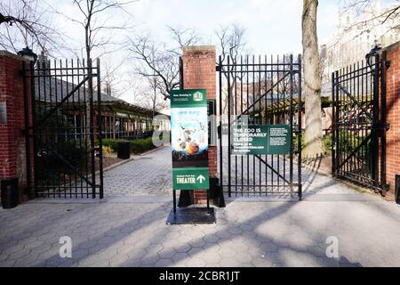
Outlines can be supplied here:
<path id="1" fill-rule="evenodd" d="M 332 175 L 386 184 L 386 53 L 332 73 Z"/>

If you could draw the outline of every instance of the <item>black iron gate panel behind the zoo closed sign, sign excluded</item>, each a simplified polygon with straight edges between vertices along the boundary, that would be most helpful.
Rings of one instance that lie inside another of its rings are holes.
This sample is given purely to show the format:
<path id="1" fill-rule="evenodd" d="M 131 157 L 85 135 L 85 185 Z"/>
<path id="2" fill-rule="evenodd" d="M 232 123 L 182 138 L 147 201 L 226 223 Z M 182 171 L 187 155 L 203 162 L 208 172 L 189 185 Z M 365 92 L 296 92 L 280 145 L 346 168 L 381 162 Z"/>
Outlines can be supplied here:
<path id="1" fill-rule="evenodd" d="M 220 185 L 230 197 L 293 195 L 301 199 L 301 57 L 227 57 L 220 77 Z M 286 155 L 232 155 L 232 127 L 288 125 Z"/>

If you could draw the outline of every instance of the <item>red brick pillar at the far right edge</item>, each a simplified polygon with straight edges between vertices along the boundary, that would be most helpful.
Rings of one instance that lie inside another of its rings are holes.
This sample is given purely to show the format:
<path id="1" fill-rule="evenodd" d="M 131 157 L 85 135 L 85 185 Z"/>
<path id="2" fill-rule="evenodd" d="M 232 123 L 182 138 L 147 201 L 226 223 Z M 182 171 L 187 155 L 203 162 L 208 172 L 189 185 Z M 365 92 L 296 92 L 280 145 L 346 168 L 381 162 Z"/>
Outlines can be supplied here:
<path id="1" fill-rule="evenodd" d="M 400 175 L 400 42 L 385 50 L 390 61 L 386 77 L 387 121 L 390 123 L 386 134 L 386 179 L 390 184 L 390 194 L 394 194 L 395 178 Z"/>

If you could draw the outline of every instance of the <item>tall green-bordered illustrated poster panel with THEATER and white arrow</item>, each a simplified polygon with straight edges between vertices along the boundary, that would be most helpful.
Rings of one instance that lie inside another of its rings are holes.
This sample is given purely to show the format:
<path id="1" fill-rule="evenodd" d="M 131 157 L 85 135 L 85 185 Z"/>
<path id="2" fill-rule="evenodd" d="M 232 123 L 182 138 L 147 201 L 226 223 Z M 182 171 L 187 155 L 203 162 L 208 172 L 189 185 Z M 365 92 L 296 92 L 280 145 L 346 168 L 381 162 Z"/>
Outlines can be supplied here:
<path id="1" fill-rule="evenodd" d="M 208 119 L 205 89 L 171 93 L 174 189 L 208 188 Z"/>

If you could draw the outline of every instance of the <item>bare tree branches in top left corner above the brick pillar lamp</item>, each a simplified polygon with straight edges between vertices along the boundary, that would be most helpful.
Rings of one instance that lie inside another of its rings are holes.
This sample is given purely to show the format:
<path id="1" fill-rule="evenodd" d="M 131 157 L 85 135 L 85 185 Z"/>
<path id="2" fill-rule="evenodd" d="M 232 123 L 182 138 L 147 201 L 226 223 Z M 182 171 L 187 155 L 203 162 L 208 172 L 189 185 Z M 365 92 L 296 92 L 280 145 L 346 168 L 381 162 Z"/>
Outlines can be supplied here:
<path id="1" fill-rule="evenodd" d="M 51 28 L 50 13 L 38 0 L 0 3 L 0 46 L 13 52 L 25 45 L 46 52 L 62 43 L 62 37 Z"/>

